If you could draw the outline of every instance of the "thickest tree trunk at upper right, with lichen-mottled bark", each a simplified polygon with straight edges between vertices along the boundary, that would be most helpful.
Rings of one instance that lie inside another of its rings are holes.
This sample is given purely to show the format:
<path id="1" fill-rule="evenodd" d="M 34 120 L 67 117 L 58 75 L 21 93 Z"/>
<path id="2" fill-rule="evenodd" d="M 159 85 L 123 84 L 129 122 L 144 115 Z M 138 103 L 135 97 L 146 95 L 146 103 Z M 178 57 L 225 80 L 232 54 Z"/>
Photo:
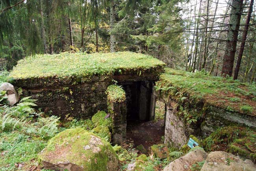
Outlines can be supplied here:
<path id="1" fill-rule="evenodd" d="M 232 0 L 231 16 L 229 20 L 228 35 L 226 41 L 226 50 L 223 58 L 223 66 L 221 70 L 221 75 L 226 77 L 226 75 L 232 76 L 234 59 L 236 54 L 236 44 L 238 30 L 240 26 L 241 12 L 243 7 L 243 0 Z"/>

